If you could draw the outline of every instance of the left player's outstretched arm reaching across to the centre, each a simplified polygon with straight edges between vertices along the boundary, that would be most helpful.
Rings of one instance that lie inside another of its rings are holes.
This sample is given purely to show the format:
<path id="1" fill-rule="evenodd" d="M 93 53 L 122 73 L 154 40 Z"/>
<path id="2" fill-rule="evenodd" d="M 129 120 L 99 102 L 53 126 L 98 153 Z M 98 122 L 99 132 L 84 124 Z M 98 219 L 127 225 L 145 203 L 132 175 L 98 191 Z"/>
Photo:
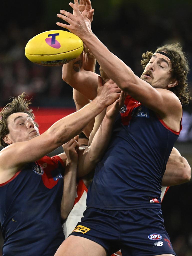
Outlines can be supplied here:
<path id="1" fill-rule="evenodd" d="M 12 177 L 24 164 L 37 161 L 52 152 L 79 134 L 95 116 L 119 96 L 119 87 L 115 84 L 106 84 L 92 102 L 57 121 L 43 134 L 29 141 L 16 143 L 12 143 L 10 136 L 6 135 L 4 140 L 10 145 L 0 152 L 0 172 L 6 174 L 7 179 L 8 175 Z M 30 125 L 34 126 L 34 123 Z"/>

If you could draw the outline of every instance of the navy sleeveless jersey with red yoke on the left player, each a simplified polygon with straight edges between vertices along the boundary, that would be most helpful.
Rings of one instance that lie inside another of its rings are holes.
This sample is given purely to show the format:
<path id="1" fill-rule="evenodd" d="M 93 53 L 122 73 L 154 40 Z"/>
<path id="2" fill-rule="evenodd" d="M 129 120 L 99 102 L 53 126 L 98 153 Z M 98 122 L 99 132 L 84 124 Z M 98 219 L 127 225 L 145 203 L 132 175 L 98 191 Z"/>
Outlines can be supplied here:
<path id="1" fill-rule="evenodd" d="M 65 240 L 60 207 L 63 161 L 45 156 L 0 184 L 3 256 L 53 256 Z"/>

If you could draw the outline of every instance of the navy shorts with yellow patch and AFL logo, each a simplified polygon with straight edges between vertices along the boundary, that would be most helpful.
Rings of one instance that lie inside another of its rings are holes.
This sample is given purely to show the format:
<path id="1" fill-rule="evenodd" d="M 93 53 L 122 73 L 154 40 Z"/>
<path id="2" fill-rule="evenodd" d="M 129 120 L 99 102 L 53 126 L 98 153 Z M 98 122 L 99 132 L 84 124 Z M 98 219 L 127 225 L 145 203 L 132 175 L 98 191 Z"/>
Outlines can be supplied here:
<path id="1" fill-rule="evenodd" d="M 163 226 L 161 209 L 88 208 L 83 216 L 70 235 L 100 244 L 108 255 L 119 249 L 125 256 L 176 255 Z"/>

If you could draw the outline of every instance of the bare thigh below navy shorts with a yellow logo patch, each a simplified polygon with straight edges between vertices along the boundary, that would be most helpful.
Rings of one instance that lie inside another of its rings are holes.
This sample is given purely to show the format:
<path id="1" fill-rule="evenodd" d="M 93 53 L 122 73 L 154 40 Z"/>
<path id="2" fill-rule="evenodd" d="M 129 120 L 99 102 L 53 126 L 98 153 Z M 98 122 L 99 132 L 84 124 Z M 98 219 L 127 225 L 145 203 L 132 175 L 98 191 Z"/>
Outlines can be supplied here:
<path id="1" fill-rule="evenodd" d="M 84 237 L 69 236 L 54 256 L 106 256 L 105 249 L 98 243 Z"/>

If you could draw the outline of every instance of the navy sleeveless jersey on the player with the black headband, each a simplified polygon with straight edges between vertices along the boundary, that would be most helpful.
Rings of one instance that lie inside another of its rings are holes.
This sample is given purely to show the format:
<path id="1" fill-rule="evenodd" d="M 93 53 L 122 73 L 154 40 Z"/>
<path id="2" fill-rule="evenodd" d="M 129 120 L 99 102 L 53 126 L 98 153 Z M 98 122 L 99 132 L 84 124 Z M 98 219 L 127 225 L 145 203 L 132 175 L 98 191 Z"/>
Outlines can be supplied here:
<path id="1" fill-rule="evenodd" d="M 87 207 L 161 208 L 162 177 L 178 135 L 155 112 L 127 96 L 96 166 Z"/>

